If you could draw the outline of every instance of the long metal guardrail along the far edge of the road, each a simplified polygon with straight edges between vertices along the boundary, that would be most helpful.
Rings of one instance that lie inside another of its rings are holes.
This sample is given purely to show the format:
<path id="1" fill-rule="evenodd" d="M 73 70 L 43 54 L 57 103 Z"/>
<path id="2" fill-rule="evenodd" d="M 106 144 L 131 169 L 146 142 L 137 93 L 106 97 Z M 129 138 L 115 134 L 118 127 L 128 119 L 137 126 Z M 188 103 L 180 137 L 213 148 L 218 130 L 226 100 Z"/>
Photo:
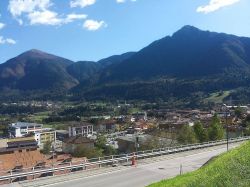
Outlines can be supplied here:
<path id="1" fill-rule="evenodd" d="M 229 139 L 229 143 L 236 143 L 241 141 L 250 140 L 250 136 L 248 137 L 239 137 L 239 138 L 231 138 Z M 34 169 L 32 168 L 31 171 L 28 172 L 12 172 L 10 171 L 9 175 L 0 176 L 0 181 L 4 180 L 10 180 L 10 182 L 13 179 L 22 178 L 22 177 L 28 177 L 28 176 L 36 176 L 38 174 L 48 174 L 48 173 L 54 173 L 57 171 L 65 171 L 69 170 L 72 171 L 73 169 L 86 169 L 88 166 L 101 166 L 104 164 L 113 164 L 113 163 L 121 163 L 121 162 L 128 162 L 133 157 L 136 157 L 136 159 L 145 159 L 150 157 L 156 157 L 156 156 L 162 156 L 162 155 L 168 155 L 173 153 L 179 153 L 179 152 L 185 152 L 190 151 L 194 149 L 201 149 L 206 147 L 213 147 L 218 145 L 226 144 L 227 140 L 220 140 L 220 141 L 210 141 L 205 143 L 196 143 L 196 144 L 187 144 L 187 145 L 181 145 L 176 147 L 166 147 L 166 148 L 159 148 L 159 149 L 153 149 L 153 150 L 147 150 L 147 151 L 138 151 L 130 154 L 122 154 L 122 155 L 113 155 L 113 156 L 107 156 L 107 157 L 100 157 L 100 158 L 93 158 L 89 160 L 83 160 L 82 163 L 73 164 L 71 162 L 65 163 L 69 164 L 68 166 L 57 166 L 57 167 L 51 167 L 51 168 L 40 168 L 40 169 Z M 64 164 L 64 165 L 65 165 Z M 29 168 L 26 168 L 29 169 Z M 7 172 L 6 172 L 7 173 Z"/>

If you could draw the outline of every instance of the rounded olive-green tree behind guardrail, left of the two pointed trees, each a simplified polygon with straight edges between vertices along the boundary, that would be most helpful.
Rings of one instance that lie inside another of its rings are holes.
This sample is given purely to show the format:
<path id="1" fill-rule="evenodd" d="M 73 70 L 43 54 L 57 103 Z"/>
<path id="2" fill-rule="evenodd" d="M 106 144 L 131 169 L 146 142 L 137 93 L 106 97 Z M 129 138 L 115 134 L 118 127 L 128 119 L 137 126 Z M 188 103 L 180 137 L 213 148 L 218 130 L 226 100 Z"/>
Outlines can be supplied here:
<path id="1" fill-rule="evenodd" d="M 197 139 L 194 130 L 189 125 L 184 125 L 178 134 L 177 140 L 182 144 L 196 143 Z"/>

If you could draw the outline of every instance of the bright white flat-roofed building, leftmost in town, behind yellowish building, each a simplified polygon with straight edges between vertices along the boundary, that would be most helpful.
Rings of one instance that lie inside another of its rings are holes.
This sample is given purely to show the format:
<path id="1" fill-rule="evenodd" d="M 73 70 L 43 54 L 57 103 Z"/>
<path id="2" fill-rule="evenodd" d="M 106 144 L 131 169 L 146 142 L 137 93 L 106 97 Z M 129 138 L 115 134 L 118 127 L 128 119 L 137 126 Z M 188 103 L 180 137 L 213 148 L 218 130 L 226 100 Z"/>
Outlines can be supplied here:
<path id="1" fill-rule="evenodd" d="M 41 132 L 43 129 L 42 124 L 37 123 L 26 123 L 26 122 L 17 122 L 9 124 L 9 137 L 18 138 L 24 137 L 32 133 Z"/>

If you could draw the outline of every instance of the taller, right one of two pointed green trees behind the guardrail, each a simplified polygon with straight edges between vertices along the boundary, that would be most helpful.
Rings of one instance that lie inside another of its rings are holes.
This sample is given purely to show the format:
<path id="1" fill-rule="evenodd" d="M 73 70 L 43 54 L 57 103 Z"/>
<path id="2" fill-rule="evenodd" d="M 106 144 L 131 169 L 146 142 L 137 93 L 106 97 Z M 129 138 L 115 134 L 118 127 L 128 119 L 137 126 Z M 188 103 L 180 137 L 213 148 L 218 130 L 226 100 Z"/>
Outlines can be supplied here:
<path id="1" fill-rule="evenodd" d="M 212 124 L 208 129 L 209 140 L 221 140 L 224 138 L 224 129 L 221 125 L 219 118 L 215 115 L 212 120 Z"/>

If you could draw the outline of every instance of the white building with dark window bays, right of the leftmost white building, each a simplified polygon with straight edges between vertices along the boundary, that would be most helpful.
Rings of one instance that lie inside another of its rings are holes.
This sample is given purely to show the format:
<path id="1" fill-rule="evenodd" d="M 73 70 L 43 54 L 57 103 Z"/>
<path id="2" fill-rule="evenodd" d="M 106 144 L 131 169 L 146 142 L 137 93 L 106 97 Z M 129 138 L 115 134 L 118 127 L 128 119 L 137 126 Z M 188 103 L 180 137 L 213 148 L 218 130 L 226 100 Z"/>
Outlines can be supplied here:
<path id="1" fill-rule="evenodd" d="M 69 126 L 69 137 L 93 135 L 93 125 L 90 123 L 76 123 Z"/>

